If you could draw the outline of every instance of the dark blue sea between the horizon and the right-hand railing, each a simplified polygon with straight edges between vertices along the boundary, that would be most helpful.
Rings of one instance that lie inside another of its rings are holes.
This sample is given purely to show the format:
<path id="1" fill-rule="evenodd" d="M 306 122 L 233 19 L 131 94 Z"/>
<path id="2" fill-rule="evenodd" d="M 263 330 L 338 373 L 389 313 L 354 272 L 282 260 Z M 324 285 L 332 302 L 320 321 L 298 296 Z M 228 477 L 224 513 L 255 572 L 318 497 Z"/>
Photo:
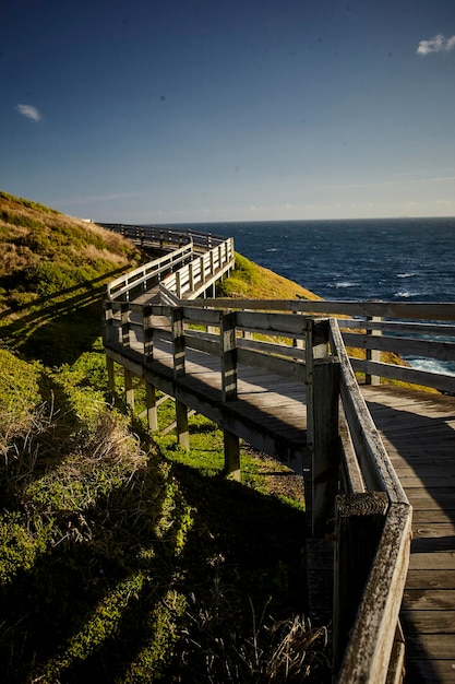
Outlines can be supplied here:
<path id="1" fill-rule="evenodd" d="M 325 299 L 455 302 L 455 217 L 172 225 L 231 236 Z"/>

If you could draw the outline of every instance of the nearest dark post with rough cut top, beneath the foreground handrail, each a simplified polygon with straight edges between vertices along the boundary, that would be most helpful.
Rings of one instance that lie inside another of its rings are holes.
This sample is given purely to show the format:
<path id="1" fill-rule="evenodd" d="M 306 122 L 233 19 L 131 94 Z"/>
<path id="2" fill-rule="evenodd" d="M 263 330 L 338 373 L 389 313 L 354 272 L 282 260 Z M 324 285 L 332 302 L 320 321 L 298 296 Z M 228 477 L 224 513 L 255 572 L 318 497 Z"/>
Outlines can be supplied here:
<path id="1" fill-rule="evenodd" d="M 343 660 L 363 589 L 384 528 L 388 499 L 383 492 L 336 498 L 333 672 Z M 391 625 L 395 632 L 396 625 Z"/>

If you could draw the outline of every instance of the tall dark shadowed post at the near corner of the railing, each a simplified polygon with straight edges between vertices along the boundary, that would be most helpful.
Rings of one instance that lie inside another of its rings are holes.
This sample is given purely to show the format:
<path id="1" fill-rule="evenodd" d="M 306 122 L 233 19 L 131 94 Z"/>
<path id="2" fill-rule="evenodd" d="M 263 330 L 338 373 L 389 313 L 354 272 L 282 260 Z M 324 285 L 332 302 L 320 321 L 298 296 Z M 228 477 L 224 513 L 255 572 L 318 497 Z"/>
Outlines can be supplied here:
<path id="1" fill-rule="evenodd" d="M 322 536 L 334 517 L 339 480 L 339 363 L 313 362 L 312 530 Z"/>

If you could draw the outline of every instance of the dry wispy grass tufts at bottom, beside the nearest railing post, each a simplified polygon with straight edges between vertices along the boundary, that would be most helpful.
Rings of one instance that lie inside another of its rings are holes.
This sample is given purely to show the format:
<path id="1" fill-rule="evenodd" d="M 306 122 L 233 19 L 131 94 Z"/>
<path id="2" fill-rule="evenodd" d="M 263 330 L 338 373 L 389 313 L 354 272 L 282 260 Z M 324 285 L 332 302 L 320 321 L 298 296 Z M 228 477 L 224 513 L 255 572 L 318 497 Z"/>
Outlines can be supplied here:
<path id="1" fill-rule="evenodd" d="M 172 681 L 280 684 L 302 682 L 319 670 L 326 674 L 326 628 L 312 628 L 300 615 L 275 621 L 267 609 L 268 604 L 256 614 L 250 600 L 247 624 L 239 597 L 219 578 L 207 606 L 201 608 L 193 594 L 185 614 L 190 627 L 181 656 L 185 674 Z"/>

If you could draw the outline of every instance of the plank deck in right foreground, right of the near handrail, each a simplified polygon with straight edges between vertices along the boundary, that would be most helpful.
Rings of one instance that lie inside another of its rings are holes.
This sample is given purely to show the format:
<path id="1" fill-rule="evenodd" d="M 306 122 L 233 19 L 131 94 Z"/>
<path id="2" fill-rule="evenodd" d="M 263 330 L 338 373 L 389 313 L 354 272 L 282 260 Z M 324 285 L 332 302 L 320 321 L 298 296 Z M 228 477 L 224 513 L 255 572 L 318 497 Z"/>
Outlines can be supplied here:
<path id="1" fill-rule="evenodd" d="M 403 601 L 406 682 L 455 682 L 455 398 L 363 387 L 412 506 Z"/>

